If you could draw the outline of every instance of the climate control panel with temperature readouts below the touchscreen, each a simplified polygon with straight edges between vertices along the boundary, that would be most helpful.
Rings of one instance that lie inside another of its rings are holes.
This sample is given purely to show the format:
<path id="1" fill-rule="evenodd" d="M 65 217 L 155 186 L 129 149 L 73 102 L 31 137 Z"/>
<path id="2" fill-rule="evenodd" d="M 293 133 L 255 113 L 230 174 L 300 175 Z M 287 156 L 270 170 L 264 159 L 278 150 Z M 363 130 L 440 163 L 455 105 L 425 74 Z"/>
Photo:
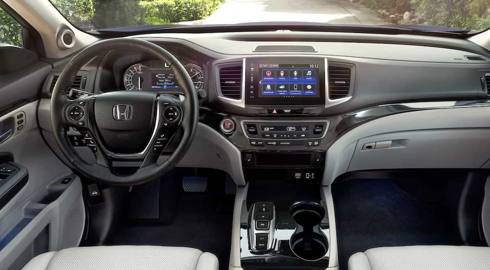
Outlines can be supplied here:
<path id="1" fill-rule="evenodd" d="M 329 121 L 252 121 L 241 122 L 251 146 L 318 146 L 326 135 Z"/>

